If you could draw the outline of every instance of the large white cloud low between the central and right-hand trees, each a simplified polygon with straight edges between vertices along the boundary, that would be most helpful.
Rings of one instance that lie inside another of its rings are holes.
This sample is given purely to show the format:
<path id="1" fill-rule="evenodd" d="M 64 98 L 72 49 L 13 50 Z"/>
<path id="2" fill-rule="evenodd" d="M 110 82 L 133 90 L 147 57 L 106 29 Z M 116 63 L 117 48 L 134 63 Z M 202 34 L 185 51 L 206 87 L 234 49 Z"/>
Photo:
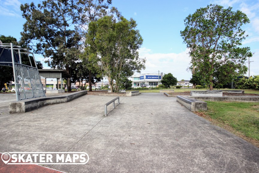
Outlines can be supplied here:
<path id="1" fill-rule="evenodd" d="M 146 69 L 142 73 L 160 71 L 164 74 L 172 73 L 179 80 L 189 80 L 192 74 L 186 71 L 191 60 L 188 52 L 186 49 L 181 53 L 152 53 L 150 49 L 141 48 L 139 57 L 146 58 Z"/>

